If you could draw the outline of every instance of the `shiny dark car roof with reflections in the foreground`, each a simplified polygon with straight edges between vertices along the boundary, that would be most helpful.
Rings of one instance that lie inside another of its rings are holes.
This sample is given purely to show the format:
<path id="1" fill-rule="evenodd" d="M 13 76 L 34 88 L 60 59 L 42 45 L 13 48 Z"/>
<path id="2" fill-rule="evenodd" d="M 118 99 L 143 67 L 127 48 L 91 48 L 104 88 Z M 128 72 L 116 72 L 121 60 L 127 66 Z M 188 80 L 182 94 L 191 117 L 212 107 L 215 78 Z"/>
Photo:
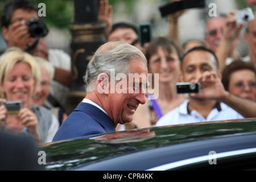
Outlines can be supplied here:
<path id="1" fill-rule="evenodd" d="M 126 130 L 45 144 L 48 170 L 144 170 L 256 147 L 256 118 Z"/>

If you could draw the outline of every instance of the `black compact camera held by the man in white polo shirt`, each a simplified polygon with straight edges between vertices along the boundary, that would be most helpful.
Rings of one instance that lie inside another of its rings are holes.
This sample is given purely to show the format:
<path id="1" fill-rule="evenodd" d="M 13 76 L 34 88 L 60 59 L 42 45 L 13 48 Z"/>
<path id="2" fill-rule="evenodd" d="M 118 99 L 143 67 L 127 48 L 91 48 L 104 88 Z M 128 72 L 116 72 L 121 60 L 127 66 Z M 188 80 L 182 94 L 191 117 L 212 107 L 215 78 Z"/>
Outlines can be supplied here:
<path id="1" fill-rule="evenodd" d="M 177 82 L 176 92 L 177 93 L 200 93 L 200 82 L 193 84 L 191 82 Z"/>

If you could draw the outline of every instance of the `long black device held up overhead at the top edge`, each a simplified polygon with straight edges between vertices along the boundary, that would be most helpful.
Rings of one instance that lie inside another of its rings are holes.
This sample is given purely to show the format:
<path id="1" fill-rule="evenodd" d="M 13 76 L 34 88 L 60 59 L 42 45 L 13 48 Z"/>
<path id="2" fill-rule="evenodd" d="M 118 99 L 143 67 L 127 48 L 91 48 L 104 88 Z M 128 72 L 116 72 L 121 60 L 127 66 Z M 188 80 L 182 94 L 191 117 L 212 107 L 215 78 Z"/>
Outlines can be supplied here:
<path id="1" fill-rule="evenodd" d="M 160 6 L 159 11 L 162 17 L 174 14 L 177 11 L 191 9 L 191 8 L 204 8 L 205 0 L 183 0 L 183 1 L 175 1 L 169 2 L 166 5 Z"/>

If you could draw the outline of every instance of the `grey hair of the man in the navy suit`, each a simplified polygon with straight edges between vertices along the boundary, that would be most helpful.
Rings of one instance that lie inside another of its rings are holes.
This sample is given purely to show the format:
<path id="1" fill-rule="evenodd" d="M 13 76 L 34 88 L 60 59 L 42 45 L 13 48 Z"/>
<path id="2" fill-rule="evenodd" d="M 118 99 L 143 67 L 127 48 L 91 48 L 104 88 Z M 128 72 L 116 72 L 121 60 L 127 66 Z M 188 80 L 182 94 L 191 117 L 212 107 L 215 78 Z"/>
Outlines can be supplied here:
<path id="1" fill-rule="evenodd" d="M 87 65 L 84 76 L 86 92 L 93 92 L 97 77 L 101 73 L 107 73 L 110 76 L 110 70 L 114 69 L 115 75 L 118 73 L 127 75 L 130 72 L 131 60 L 142 61 L 147 66 L 146 57 L 138 48 L 125 42 L 103 44 Z"/>

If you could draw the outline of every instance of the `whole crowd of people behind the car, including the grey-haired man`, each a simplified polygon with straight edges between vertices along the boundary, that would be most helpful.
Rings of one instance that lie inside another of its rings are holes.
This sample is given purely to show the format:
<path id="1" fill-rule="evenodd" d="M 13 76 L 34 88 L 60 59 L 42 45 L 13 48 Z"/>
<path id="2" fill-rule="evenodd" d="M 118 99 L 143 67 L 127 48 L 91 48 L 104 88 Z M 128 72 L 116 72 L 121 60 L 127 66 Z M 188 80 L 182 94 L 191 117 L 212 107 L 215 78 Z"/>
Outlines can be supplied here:
<path id="1" fill-rule="evenodd" d="M 166 37 L 141 47 L 135 25 L 112 24 L 113 10 L 107 0 L 100 1 L 98 10 L 108 42 L 90 60 L 84 78 L 86 97 L 68 116 L 70 56 L 48 49 L 43 38 L 30 37 L 26 22 L 38 18 L 32 2 L 5 5 L 1 23 L 8 48 L 0 57 L 0 130 L 28 135 L 40 144 L 127 129 L 256 117 L 256 19 L 238 25 L 237 10 L 209 18 L 204 40 L 191 37 L 181 44 L 179 17 L 187 10 L 180 11 L 170 15 Z M 237 50 L 242 28 L 246 57 Z M 100 93 L 98 89 L 105 90 L 106 85 L 98 77 L 108 76 L 110 69 L 126 75 L 158 73 L 154 86 L 159 87 L 159 97 Z M 200 82 L 201 92 L 178 94 L 177 82 Z M 17 100 L 22 109 L 8 114 L 5 103 Z"/>

